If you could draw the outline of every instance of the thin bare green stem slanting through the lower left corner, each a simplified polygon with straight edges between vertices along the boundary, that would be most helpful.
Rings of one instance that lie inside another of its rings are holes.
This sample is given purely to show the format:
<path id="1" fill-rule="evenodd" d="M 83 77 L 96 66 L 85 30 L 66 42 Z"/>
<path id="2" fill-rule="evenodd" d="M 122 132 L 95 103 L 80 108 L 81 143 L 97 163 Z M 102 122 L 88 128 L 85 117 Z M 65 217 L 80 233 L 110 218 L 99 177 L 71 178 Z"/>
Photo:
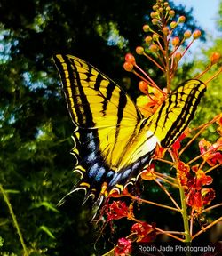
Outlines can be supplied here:
<path id="1" fill-rule="evenodd" d="M 10 214 L 12 216 L 14 227 L 16 228 L 17 233 L 18 233 L 18 235 L 20 237 L 20 244 L 22 245 L 22 248 L 24 250 L 24 256 L 28 256 L 28 250 L 27 250 L 26 244 L 24 242 L 24 239 L 23 239 L 23 237 L 21 235 L 19 223 L 16 220 L 16 216 L 15 216 L 15 214 L 13 212 L 13 209 L 12 209 L 12 204 L 10 203 L 9 198 L 8 198 L 7 194 L 5 193 L 2 184 L 0 184 L 0 192 L 3 194 L 4 201 L 7 204 L 8 208 L 9 208 L 9 212 L 10 212 Z"/>

